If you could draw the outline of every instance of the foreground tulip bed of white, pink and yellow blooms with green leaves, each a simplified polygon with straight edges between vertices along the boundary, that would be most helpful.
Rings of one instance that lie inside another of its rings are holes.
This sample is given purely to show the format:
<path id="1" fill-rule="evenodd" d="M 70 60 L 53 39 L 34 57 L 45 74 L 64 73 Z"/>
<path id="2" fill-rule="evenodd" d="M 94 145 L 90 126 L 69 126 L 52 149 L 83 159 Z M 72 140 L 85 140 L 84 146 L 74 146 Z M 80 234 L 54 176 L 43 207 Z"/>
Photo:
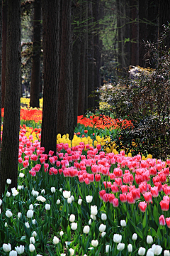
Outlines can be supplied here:
<path id="1" fill-rule="evenodd" d="M 0 201 L 1 255 L 169 255 L 170 161 L 82 139 L 69 147 L 59 135 L 47 156 L 40 129 L 21 127 L 18 188 L 8 192 L 8 179 Z"/>

